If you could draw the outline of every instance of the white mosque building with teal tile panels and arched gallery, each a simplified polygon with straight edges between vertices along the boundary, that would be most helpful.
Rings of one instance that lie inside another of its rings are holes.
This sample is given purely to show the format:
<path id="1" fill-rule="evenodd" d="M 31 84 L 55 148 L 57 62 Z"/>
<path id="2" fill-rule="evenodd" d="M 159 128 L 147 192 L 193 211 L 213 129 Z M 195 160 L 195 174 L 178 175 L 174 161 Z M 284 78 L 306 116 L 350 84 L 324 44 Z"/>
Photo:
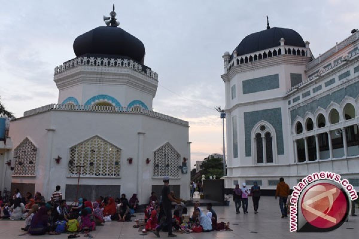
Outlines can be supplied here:
<path id="1" fill-rule="evenodd" d="M 227 188 L 331 171 L 359 189 L 358 48 L 354 29 L 314 58 L 297 32 L 267 24 L 224 53 Z"/>

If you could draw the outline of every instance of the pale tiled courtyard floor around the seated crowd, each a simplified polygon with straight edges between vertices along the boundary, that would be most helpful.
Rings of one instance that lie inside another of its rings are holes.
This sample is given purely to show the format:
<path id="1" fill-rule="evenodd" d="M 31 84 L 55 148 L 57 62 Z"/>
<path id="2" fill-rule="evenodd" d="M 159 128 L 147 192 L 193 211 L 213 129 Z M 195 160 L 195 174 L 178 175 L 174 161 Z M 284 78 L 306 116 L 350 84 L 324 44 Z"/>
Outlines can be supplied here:
<path id="1" fill-rule="evenodd" d="M 205 208 L 205 205 L 202 206 Z M 279 213 L 279 201 L 274 197 L 261 197 L 259 205 L 259 213 L 253 213 L 252 201 L 249 201 L 248 214 L 236 214 L 233 201 L 230 206 L 214 207 L 217 212 L 219 220 L 225 222 L 230 221 L 230 228 L 233 231 L 225 232 L 210 232 L 210 233 L 192 233 L 192 234 L 177 234 L 178 239 L 292 239 L 292 238 L 306 238 L 306 239 L 331 239 L 331 238 L 358 238 L 359 233 L 359 216 L 352 217 L 349 222 L 344 223 L 340 228 L 328 233 L 290 233 L 289 219 L 281 219 Z M 192 213 L 193 208 L 189 208 L 188 212 Z M 359 214 L 357 209 L 356 214 Z M 137 214 L 136 218 L 143 217 L 143 214 Z M 24 221 L 0 221 L 0 239 L 65 239 L 67 234 L 61 235 L 44 235 L 44 236 L 30 236 L 23 234 L 20 228 Z M 237 225 L 235 225 L 237 224 Z M 150 239 L 157 238 L 153 233 L 148 233 L 143 236 L 138 229 L 132 228 L 133 222 L 107 222 L 104 226 L 98 226 L 96 231 L 91 234 L 95 239 Z M 353 228 L 353 229 L 347 229 Z M 252 233 L 257 232 L 257 233 Z M 167 233 L 160 233 L 161 238 L 167 238 Z M 79 239 L 85 239 L 81 235 Z"/>

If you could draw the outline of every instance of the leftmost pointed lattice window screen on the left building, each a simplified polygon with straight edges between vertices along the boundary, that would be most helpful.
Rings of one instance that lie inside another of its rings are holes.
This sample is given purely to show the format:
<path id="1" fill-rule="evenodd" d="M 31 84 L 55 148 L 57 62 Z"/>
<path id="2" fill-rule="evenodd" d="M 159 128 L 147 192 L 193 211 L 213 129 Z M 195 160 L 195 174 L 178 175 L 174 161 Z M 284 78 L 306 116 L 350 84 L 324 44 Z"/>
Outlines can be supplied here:
<path id="1" fill-rule="evenodd" d="M 14 173 L 13 175 L 35 175 L 36 146 L 26 138 L 14 150 Z"/>

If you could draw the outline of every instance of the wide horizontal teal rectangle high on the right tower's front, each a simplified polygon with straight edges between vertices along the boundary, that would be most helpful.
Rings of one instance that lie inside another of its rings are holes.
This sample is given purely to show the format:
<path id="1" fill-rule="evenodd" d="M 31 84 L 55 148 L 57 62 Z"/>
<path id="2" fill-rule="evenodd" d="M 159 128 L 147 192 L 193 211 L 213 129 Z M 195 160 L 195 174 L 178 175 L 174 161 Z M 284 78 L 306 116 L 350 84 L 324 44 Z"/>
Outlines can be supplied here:
<path id="1" fill-rule="evenodd" d="M 243 95 L 279 88 L 279 74 L 242 81 Z"/>

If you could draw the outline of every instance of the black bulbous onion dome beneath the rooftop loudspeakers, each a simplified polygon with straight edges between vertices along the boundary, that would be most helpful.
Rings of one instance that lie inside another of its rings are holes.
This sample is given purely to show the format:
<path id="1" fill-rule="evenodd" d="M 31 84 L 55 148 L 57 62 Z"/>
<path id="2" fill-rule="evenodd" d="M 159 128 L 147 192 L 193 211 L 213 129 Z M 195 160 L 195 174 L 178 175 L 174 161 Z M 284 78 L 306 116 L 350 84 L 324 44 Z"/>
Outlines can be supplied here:
<path id="1" fill-rule="evenodd" d="M 142 63 L 145 56 L 143 43 L 119 27 L 97 27 L 79 35 L 74 41 L 76 57 L 83 55 L 126 56 Z"/>

